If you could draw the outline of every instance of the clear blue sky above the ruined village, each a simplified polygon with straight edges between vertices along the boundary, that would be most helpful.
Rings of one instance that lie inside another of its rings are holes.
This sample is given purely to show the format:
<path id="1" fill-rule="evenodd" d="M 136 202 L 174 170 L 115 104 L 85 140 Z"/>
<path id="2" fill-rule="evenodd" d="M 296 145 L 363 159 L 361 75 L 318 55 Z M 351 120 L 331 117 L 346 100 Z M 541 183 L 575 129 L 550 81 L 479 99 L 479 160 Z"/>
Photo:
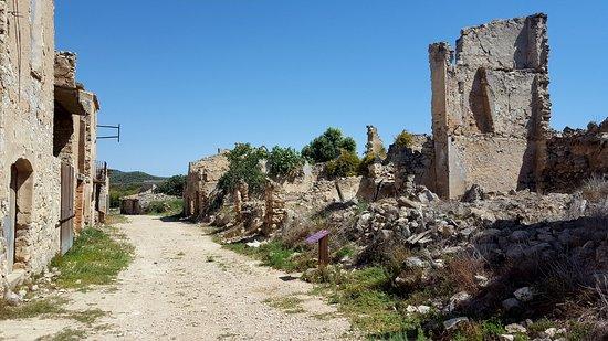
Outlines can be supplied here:
<path id="1" fill-rule="evenodd" d="M 359 149 L 370 124 L 387 145 L 430 132 L 429 43 L 535 12 L 548 14 L 552 126 L 608 116 L 608 1 L 55 3 L 56 49 L 78 54 L 99 122 L 123 127 L 98 143 L 120 170 L 185 173 L 235 141 L 300 149 L 328 126 Z"/>

